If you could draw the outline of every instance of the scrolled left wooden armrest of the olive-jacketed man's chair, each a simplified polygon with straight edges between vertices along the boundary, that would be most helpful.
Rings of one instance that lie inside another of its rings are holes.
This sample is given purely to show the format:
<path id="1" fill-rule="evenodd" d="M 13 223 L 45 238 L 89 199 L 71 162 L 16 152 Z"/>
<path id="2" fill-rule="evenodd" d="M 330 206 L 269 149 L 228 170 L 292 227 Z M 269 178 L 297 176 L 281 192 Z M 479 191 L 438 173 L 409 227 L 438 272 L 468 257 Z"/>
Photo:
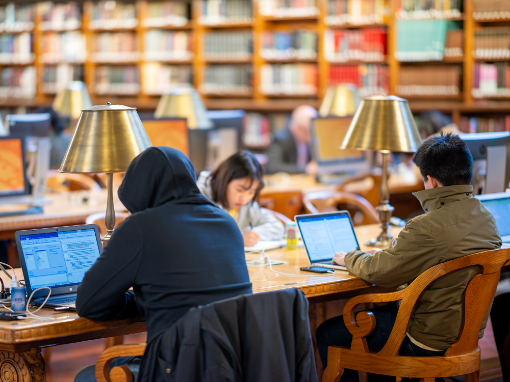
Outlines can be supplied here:
<path id="1" fill-rule="evenodd" d="M 389 293 L 361 294 L 352 297 L 344 308 L 344 322 L 352 334 L 351 350 L 368 352 L 365 339 L 375 328 L 375 316 L 372 312 L 361 312 L 355 317 L 355 309 L 364 303 L 388 303 L 402 299 L 405 289 Z"/>

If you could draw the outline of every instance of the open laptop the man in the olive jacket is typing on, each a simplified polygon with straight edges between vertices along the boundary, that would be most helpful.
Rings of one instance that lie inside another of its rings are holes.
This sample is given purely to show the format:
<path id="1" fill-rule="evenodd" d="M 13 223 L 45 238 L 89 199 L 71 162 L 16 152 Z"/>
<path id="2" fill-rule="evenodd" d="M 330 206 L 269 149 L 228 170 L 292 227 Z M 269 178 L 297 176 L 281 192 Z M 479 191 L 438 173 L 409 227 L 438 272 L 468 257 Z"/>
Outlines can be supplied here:
<path id="1" fill-rule="evenodd" d="M 336 252 L 360 249 L 349 211 L 296 215 L 294 219 L 301 232 L 310 264 L 347 270 L 345 266 L 334 265 L 333 257 Z"/>

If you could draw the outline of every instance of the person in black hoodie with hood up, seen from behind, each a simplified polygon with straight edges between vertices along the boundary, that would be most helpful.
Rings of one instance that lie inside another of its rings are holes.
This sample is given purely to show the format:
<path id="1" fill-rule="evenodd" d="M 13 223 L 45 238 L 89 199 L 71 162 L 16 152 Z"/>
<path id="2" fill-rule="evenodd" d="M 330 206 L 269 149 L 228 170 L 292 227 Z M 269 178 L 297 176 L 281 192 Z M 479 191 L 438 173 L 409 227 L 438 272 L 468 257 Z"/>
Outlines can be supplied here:
<path id="1" fill-rule="evenodd" d="M 145 150 L 131 162 L 118 195 L 132 215 L 86 272 L 76 302 L 80 316 L 142 315 L 150 343 L 190 308 L 251 293 L 241 231 L 200 194 L 181 151 Z M 87 368 L 75 381 L 95 379 L 89 376 Z"/>

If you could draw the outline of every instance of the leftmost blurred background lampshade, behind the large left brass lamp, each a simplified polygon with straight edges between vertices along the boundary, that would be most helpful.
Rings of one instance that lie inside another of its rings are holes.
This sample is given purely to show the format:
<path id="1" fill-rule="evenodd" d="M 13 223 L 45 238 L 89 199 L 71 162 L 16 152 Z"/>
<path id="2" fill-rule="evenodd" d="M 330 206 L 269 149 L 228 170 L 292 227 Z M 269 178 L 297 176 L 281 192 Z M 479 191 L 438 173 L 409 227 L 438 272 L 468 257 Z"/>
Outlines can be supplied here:
<path id="1" fill-rule="evenodd" d="M 67 88 L 62 89 L 53 101 L 53 110 L 60 117 L 80 118 L 81 110 L 91 107 L 87 87 L 83 81 L 71 81 Z"/>

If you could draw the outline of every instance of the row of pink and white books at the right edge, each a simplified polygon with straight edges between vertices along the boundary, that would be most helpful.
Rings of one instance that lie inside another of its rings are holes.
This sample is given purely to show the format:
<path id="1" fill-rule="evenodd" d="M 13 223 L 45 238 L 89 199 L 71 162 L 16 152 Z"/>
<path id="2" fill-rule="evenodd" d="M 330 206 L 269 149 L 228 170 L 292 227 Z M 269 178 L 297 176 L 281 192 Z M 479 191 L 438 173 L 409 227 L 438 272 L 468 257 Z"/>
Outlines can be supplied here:
<path id="1" fill-rule="evenodd" d="M 475 63 L 471 94 L 475 98 L 510 97 L 510 63 Z"/>

